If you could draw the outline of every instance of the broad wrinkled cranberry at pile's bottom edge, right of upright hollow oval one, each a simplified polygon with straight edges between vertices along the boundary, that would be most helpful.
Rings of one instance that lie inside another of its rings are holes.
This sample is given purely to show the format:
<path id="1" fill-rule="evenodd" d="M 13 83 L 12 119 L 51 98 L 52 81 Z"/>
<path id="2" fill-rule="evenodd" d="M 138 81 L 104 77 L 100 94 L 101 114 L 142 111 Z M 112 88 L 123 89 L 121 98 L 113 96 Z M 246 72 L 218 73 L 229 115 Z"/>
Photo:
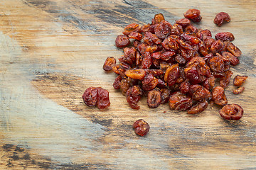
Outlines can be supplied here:
<path id="1" fill-rule="evenodd" d="M 186 111 L 192 106 L 191 98 L 181 94 L 180 91 L 174 92 L 169 98 L 169 106 L 171 110 Z"/>

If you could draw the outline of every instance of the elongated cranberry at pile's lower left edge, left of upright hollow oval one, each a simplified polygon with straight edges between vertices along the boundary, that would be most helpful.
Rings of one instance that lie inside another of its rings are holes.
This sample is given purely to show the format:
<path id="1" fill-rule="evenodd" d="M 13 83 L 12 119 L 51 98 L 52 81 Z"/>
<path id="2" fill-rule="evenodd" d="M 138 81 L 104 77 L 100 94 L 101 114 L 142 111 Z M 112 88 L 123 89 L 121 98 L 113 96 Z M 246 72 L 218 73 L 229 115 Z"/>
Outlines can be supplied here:
<path id="1" fill-rule="evenodd" d="M 142 98 L 142 89 L 139 86 L 132 86 L 127 90 L 126 93 L 127 102 L 133 109 L 139 109 L 139 100 Z"/>

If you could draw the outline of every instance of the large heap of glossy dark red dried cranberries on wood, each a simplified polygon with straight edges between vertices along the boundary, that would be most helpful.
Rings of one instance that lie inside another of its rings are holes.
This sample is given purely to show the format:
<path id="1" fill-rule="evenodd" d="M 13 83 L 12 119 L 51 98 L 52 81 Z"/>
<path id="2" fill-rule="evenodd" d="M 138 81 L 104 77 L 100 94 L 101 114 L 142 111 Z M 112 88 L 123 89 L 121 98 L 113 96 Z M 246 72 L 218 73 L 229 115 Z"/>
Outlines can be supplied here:
<path id="1" fill-rule="evenodd" d="M 201 21 L 200 14 L 189 9 L 185 18 L 171 24 L 158 13 L 151 24 L 129 24 L 117 36 L 115 45 L 123 48 L 124 55 L 119 64 L 114 57 L 107 57 L 103 69 L 118 74 L 114 89 L 122 91 L 131 108 L 139 109 L 137 103 L 146 96 L 149 108 L 169 103 L 171 110 L 195 114 L 205 111 L 212 101 L 223 106 L 220 115 L 224 119 L 242 117 L 240 106 L 227 105 L 224 90 L 233 75 L 230 66 L 239 64 L 242 52 L 231 42 L 235 39 L 232 33 L 217 33 L 213 39 L 210 30 L 193 26 L 191 21 Z M 214 21 L 218 26 L 230 21 L 228 13 L 220 14 Z M 237 78 L 242 83 L 247 79 Z M 234 89 L 234 94 L 243 90 Z"/>

